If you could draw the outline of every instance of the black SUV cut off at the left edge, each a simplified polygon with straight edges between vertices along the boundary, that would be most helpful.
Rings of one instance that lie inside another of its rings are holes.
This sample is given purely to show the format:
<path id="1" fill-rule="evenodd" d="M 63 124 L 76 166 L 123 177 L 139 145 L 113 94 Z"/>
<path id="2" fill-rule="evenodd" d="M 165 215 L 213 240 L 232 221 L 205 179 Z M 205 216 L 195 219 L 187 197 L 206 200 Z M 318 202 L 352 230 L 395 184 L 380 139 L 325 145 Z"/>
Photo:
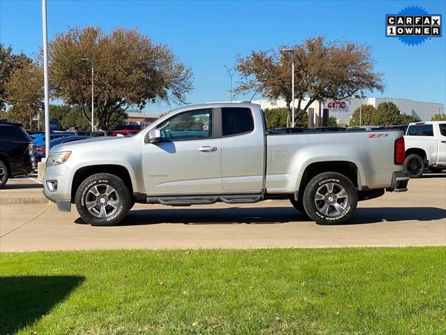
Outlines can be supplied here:
<path id="1" fill-rule="evenodd" d="M 0 188 L 34 170 L 33 139 L 22 124 L 0 120 Z"/>

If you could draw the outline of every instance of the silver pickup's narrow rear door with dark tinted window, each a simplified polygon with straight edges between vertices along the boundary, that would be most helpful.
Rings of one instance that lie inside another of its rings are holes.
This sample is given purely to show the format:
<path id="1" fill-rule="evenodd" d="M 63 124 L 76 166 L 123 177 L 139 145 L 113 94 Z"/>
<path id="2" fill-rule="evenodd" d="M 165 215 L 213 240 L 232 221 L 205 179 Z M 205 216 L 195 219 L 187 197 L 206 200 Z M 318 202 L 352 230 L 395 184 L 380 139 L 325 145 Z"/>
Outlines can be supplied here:
<path id="1" fill-rule="evenodd" d="M 249 107 L 222 107 L 221 179 L 224 191 L 260 193 L 265 174 L 265 128 Z"/>

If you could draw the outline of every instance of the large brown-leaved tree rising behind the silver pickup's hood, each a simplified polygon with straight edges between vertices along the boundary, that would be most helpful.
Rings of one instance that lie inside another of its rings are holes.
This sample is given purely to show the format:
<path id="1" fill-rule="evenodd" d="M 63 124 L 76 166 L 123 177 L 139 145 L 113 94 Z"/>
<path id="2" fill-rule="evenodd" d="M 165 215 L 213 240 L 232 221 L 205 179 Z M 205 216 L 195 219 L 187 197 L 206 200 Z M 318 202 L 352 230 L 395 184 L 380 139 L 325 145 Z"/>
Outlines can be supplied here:
<path id="1" fill-rule="evenodd" d="M 94 64 L 95 123 L 107 129 L 116 113 L 130 105 L 186 103 L 193 89 L 191 68 L 177 60 L 166 45 L 152 43 L 137 29 L 98 27 L 70 29 L 49 45 L 52 92 L 69 105 L 80 105 L 90 120 L 91 62 Z M 82 61 L 88 58 L 90 61 Z M 119 116 L 118 116 L 119 119 Z"/>

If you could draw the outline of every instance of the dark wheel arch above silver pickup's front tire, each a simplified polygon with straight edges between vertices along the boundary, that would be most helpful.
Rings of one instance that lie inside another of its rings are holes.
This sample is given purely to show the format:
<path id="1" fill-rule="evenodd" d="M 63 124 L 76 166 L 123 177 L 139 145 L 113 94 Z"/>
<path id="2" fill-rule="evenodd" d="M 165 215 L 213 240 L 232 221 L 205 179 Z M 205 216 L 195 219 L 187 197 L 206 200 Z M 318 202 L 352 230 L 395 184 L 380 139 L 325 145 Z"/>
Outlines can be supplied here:
<path id="1" fill-rule="evenodd" d="M 72 203 L 75 201 L 77 188 L 82 184 L 82 181 L 96 173 L 110 173 L 121 178 L 124 181 L 124 184 L 130 188 L 129 191 L 133 197 L 133 181 L 130 172 L 128 172 L 128 169 L 125 166 L 118 164 L 89 165 L 79 168 L 73 175 L 73 183 L 71 184 Z"/>

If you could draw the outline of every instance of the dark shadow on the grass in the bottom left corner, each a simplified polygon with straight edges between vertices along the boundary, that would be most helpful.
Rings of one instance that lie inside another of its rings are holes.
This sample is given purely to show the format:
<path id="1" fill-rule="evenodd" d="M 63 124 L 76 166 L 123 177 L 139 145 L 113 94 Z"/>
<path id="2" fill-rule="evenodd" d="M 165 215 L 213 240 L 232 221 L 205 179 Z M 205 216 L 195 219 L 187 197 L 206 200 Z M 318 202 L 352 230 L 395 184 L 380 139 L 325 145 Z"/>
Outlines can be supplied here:
<path id="1" fill-rule="evenodd" d="M 32 325 L 82 281 L 80 276 L 0 277 L 0 334 L 15 334 Z"/>

